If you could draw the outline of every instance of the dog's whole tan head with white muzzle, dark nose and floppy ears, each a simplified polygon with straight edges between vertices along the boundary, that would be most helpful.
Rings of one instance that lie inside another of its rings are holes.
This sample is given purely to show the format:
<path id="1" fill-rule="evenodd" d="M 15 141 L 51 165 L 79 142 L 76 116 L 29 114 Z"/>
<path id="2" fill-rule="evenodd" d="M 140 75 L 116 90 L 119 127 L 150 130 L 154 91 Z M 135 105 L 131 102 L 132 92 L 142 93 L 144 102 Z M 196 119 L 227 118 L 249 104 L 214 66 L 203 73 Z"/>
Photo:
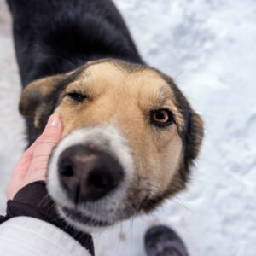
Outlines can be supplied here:
<path id="1" fill-rule="evenodd" d="M 61 216 L 82 230 L 148 212 L 183 189 L 203 137 L 201 118 L 171 78 L 124 61 L 35 81 L 20 112 L 39 130 L 60 114 L 47 186 Z"/>

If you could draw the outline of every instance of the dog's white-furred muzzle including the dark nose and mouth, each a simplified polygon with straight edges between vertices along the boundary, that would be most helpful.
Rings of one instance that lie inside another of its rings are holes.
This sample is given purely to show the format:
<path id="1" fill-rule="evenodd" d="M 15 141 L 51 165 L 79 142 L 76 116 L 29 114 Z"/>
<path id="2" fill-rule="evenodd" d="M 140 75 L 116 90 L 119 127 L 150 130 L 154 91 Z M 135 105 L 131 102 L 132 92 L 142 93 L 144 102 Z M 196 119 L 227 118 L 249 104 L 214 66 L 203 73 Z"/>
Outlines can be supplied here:
<path id="1" fill-rule="evenodd" d="M 47 188 L 67 222 L 79 229 L 106 226 L 125 216 L 133 173 L 130 143 L 118 129 L 84 127 L 53 150 Z"/>

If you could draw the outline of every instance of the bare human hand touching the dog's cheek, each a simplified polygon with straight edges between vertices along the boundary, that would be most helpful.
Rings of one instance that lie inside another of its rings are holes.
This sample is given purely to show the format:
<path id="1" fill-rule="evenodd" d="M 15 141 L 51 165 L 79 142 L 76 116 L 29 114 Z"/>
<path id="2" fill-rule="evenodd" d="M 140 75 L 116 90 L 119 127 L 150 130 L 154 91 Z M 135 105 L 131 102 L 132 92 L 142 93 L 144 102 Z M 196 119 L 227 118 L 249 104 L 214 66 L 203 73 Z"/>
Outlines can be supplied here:
<path id="1" fill-rule="evenodd" d="M 7 199 L 12 200 L 15 194 L 29 183 L 45 180 L 49 154 L 61 141 L 63 125 L 61 118 L 53 114 L 49 117 L 43 134 L 20 157 L 7 188 Z"/>

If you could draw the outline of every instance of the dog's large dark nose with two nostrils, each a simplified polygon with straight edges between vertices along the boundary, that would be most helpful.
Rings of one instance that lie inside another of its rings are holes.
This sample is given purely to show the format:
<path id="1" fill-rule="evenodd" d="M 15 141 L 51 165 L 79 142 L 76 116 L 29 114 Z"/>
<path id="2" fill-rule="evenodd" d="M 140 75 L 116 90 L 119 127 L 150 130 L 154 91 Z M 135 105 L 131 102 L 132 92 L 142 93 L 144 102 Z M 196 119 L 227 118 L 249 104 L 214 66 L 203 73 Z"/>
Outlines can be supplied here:
<path id="1" fill-rule="evenodd" d="M 121 183 L 124 172 L 110 154 L 76 145 L 63 151 L 58 161 L 61 184 L 79 203 L 96 201 Z"/>

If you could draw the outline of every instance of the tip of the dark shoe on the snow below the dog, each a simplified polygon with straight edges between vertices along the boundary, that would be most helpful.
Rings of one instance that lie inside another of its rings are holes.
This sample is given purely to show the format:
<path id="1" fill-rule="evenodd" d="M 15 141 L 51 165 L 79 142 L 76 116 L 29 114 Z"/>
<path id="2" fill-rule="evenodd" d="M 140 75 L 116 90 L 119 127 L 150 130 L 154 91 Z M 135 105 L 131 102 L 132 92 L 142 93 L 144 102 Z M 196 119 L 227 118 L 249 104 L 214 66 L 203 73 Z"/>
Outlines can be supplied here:
<path id="1" fill-rule="evenodd" d="M 189 256 L 183 241 L 166 226 L 154 226 L 145 235 L 148 256 Z"/>

